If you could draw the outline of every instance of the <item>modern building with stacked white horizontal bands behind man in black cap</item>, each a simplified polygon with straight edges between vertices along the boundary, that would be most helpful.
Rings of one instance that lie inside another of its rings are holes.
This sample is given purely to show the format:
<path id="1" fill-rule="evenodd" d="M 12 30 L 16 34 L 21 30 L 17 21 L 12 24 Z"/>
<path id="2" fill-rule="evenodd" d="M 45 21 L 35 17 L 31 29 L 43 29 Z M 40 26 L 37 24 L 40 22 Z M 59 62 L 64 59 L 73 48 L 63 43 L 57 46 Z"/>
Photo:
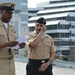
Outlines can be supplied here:
<path id="1" fill-rule="evenodd" d="M 53 37 L 56 53 L 65 56 L 67 61 L 75 61 L 75 0 L 50 0 L 48 3 L 29 19 L 29 31 L 34 30 L 34 22 L 39 17 L 44 17 L 46 33 Z"/>

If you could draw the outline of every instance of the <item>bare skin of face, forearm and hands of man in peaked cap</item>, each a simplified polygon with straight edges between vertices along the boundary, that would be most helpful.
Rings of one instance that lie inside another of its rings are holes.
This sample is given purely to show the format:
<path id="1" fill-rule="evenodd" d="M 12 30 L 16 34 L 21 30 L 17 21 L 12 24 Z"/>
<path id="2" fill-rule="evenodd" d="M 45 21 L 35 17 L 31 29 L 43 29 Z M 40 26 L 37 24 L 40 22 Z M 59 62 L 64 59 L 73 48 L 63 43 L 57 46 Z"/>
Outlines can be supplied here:
<path id="1" fill-rule="evenodd" d="M 2 22 L 4 22 L 4 23 L 9 23 L 10 20 L 11 20 L 11 18 L 12 18 L 13 12 L 7 12 L 7 11 L 5 11 L 5 10 L 0 10 L 0 13 L 1 13 L 0 15 L 1 15 L 1 20 L 2 20 Z M 16 46 L 17 44 L 18 44 L 17 41 L 8 41 L 8 42 L 6 42 L 6 43 L 1 43 L 1 44 L 0 44 L 0 48 L 4 48 L 4 47 L 14 47 L 14 46 Z M 23 42 L 23 43 L 20 43 L 19 46 L 20 46 L 20 48 L 24 48 L 25 43 L 24 43 L 24 42 Z"/>

